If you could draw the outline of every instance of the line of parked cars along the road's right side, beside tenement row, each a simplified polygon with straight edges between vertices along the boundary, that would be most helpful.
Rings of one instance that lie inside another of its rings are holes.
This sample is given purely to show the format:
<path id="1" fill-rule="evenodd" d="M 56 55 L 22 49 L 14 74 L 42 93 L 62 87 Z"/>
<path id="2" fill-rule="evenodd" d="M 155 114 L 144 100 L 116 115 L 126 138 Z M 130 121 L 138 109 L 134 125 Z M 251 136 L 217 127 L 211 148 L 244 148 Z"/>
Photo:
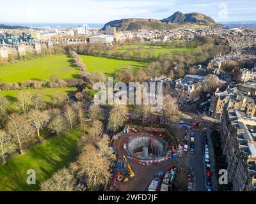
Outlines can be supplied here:
<path id="1" fill-rule="evenodd" d="M 209 157 L 209 146 L 208 146 L 208 139 L 207 136 L 204 135 L 204 161 L 205 161 L 205 168 L 206 168 L 206 191 L 212 191 L 211 187 L 211 164 L 210 164 L 210 157 Z"/>

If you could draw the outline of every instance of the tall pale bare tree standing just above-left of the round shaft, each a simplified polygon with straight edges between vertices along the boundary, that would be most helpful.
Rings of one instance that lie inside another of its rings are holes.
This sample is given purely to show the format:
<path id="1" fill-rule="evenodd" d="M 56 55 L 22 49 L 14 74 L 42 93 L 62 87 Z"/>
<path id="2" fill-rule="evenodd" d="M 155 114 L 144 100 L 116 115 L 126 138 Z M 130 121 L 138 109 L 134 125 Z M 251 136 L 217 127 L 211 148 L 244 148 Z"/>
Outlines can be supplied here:
<path id="1" fill-rule="evenodd" d="M 114 105 L 109 113 L 108 129 L 117 131 L 127 120 L 128 108 L 125 105 Z"/>

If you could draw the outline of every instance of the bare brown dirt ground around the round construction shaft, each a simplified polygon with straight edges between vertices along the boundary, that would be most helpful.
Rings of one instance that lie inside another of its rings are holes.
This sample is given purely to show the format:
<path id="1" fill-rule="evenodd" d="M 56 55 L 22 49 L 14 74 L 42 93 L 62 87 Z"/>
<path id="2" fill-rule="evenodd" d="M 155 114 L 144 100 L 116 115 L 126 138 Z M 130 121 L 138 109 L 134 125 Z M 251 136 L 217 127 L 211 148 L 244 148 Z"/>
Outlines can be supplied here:
<path id="1" fill-rule="evenodd" d="M 152 135 L 146 131 L 137 134 L 130 133 L 122 136 L 122 138 L 118 138 L 118 140 L 113 142 L 113 147 L 116 149 L 118 159 L 122 159 L 124 155 L 127 156 L 126 151 L 123 149 L 123 145 L 125 143 L 124 141 L 129 138 L 129 136 L 149 136 L 152 138 L 157 138 L 157 136 Z M 178 160 L 179 159 L 168 159 L 168 161 L 164 161 L 163 163 L 143 166 L 142 164 L 138 164 L 135 161 L 128 159 L 132 171 L 134 171 L 134 179 L 129 180 L 127 184 L 118 183 L 116 190 L 145 191 L 158 171 L 164 171 L 168 166 L 175 164 Z"/>

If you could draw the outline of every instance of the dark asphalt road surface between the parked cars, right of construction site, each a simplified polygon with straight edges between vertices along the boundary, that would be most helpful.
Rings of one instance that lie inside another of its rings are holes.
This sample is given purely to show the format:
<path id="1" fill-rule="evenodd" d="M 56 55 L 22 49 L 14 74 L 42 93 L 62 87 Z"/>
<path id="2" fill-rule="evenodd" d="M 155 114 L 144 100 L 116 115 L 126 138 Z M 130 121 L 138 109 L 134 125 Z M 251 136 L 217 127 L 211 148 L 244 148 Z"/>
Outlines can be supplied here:
<path id="1" fill-rule="evenodd" d="M 195 133 L 195 151 L 190 156 L 189 166 L 192 166 L 195 172 L 196 191 L 205 191 L 204 154 L 200 133 Z"/>

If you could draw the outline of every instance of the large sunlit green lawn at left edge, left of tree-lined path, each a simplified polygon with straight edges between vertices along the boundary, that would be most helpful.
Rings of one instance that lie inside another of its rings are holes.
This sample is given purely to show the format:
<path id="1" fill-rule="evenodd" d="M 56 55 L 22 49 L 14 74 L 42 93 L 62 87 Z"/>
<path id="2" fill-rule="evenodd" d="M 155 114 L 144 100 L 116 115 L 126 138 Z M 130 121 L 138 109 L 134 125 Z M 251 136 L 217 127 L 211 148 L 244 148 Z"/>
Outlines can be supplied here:
<path id="1" fill-rule="evenodd" d="M 51 75 L 62 79 L 78 78 L 79 69 L 68 55 L 51 55 L 40 59 L 0 66 L 2 82 L 23 82 L 26 80 L 49 80 Z"/>

